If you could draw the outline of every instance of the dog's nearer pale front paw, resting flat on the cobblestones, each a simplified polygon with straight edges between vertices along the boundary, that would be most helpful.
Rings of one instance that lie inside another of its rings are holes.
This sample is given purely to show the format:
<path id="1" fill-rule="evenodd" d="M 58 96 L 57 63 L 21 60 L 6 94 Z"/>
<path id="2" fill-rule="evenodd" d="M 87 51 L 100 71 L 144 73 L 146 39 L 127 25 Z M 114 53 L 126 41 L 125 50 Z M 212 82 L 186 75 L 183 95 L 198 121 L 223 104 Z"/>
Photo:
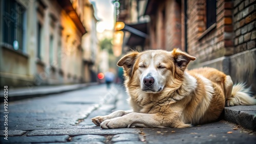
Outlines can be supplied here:
<path id="1" fill-rule="evenodd" d="M 129 128 L 130 125 L 127 122 L 122 121 L 121 117 L 108 119 L 100 124 L 102 129 L 116 129 L 116 128 Z"/>

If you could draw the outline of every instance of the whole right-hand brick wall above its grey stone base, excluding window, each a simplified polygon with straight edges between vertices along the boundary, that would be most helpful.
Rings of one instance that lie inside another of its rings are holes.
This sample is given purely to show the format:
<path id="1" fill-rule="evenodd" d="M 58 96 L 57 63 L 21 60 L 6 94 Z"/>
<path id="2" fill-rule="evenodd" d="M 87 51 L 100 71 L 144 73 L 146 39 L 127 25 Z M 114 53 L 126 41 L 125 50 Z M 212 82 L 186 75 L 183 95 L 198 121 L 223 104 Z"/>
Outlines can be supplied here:
<path id="1" fill-rule="evenodd" d="M 184 0 L 162 1 L 155 6 L 150 21 L 149 49 L 185 50 L 197 57 L 195 65 L 223 56 L 230 56 L 255 47 L 255 0 L 219 0 L 216 23 L 206 29 L 206 0 L 189 0 L 187 17 Z M 163 11 L 165 12 L 163 16 Z M 187 23 L 184 23 L 186 18 Z"/>

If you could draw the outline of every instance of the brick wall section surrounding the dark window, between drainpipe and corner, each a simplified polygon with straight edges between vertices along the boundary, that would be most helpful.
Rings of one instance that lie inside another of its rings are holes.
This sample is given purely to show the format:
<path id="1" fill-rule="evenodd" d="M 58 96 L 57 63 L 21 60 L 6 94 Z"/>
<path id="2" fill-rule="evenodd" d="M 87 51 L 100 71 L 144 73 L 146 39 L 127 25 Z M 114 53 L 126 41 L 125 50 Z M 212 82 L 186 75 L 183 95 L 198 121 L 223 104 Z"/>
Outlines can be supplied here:
<path id="1" fill-rule="evenodd" d="M 187 1 L 188 53 L 197 63 L 233 54 L 232 2 L 217 2 L 217 22 L 208 29 L 205 11 L 205 1 Z"/>

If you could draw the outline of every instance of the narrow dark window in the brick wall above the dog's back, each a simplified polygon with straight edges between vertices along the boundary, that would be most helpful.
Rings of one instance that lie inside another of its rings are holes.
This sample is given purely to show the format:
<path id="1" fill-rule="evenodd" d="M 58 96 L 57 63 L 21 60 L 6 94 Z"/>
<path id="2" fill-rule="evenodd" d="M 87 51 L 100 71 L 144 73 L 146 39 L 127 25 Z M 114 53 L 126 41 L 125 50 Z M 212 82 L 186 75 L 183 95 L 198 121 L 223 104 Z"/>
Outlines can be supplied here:
<path id="1" fill-rule="evenodd" d="M 216 0 L 206 0 L 206 29 L 216 22 Z"/>

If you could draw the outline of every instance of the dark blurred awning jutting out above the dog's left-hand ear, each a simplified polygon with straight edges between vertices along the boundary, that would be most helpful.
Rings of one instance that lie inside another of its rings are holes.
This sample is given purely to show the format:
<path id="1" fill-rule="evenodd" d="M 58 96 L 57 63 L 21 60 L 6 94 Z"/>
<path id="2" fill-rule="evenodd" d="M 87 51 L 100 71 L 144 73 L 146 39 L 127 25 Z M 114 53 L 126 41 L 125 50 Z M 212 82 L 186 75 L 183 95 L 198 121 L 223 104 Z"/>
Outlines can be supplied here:
<path id="1" fill-rule="evenodd" d="M 123 31 L 131 32 L 126 45 L 135 47 L 137 45 L 144 45 L 145 38 L 147 38 L 147 23 L 136 23 L 134 25 L 125 25 Z"/>

